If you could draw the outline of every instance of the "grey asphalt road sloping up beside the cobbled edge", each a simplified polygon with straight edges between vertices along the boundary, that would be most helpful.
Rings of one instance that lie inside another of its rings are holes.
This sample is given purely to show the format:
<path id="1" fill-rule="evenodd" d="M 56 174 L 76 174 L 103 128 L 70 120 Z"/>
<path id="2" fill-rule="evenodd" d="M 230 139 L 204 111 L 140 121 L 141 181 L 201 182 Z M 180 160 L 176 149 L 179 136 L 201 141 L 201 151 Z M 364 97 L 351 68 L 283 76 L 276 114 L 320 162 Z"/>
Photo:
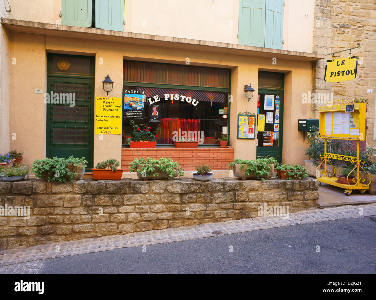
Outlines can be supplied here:
<path id="1" fill-rule="evenodd" d="M 39 274 L 375 274 L 375 264 L 376 222 L 359 217 L 47 259 Z"/>

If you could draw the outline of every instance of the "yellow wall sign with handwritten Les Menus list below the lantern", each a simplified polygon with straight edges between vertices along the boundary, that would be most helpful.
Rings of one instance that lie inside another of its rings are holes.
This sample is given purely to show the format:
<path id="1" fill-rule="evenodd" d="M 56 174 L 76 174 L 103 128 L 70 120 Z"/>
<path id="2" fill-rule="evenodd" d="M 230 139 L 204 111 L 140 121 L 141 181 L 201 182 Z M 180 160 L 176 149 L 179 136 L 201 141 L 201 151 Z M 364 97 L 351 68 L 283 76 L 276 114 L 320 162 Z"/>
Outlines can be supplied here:
<path id="1" fill-rule="evenodd" d="M 96 97 L 95 134 L 121 134 L 121 98 Z"/>

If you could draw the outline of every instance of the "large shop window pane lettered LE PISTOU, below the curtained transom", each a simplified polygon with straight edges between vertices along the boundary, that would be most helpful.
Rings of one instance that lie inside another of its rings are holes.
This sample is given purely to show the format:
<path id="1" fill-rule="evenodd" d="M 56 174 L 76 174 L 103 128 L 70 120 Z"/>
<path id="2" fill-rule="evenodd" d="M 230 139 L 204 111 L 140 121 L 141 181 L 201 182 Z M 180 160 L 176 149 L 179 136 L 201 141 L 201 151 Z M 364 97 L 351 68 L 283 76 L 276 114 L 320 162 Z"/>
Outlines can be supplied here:
<path id="1" fill-rule="evenodd" d="M 171 145 L 179 137 L 197 139 L 200 145 L 219 145 L 217 138 L 227 131 L 228 92 L 197 91 L 124 86 L 123 144 L 127 144 L 132 127 L 148 124 L 158 145 Z"/>

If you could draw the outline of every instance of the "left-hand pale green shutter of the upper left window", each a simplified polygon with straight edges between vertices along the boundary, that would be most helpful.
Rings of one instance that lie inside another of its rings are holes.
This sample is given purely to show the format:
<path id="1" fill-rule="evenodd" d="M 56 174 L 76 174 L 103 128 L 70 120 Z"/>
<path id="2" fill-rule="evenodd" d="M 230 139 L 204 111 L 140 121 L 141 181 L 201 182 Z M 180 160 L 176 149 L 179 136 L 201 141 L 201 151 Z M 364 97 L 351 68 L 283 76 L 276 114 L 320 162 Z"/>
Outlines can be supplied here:
<path id="1" fill-rule="evenodd" d="M 61 24 L 91 27 L 91 0 L 61 0 Z"/>

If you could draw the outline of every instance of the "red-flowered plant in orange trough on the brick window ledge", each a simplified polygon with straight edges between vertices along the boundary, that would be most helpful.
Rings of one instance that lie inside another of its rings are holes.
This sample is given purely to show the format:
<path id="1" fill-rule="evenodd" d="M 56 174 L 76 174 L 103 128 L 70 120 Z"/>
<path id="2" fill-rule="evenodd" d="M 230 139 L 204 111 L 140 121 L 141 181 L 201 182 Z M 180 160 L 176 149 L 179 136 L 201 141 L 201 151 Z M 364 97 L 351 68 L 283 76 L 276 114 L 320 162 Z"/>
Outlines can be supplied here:
<path id="1" fill-rule="evenodd" d="M 130 148 L 155 148 L 157 132 L 159 127 L 152 131 L 152 127 L 146 124 L 136 125 L 133 120 L 130 120 L 130 125 L 133 127 L 132 137 L 129 141 Z"/>

